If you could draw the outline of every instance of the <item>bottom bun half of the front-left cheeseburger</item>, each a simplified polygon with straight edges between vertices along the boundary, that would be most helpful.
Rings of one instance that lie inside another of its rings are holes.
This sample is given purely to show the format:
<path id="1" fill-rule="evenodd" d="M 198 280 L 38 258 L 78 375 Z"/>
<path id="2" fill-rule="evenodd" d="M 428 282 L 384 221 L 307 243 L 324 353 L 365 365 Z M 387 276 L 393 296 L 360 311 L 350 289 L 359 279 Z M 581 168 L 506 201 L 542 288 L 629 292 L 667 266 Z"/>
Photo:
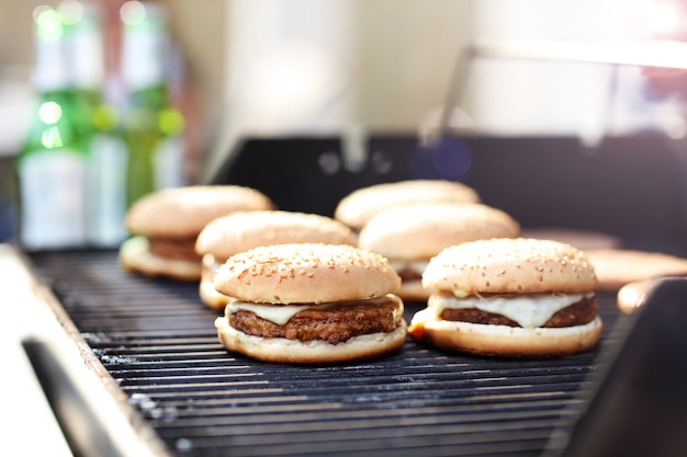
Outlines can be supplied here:
<path id="1" fill-rule="evenodd" d="M 288 364 L 333 364 L 379 357 L 401 350 L 406 340 L 405 321 L 393 332 L 353 336 L 339 344 L 249 335 L 229 325 L 226 317 L 217 318 L 215 327 L 227 350 L 258 361 Z"/>

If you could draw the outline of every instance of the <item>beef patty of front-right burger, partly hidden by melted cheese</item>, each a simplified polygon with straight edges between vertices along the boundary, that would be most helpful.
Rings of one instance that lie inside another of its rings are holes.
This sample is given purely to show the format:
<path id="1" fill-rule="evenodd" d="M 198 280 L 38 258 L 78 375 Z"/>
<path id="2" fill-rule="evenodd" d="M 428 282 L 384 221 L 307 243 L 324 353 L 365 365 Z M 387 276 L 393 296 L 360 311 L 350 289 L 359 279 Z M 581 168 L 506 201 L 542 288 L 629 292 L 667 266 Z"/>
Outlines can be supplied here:
<path id="1" fill-rule="evenodd" d="M 542 327 L 560 328 L 584 325 L 592 322 L 597 316 L 597 305 L 595 298 L 583 298 L 582 300 L 565 307 L 554 313 Z M 492 325 L 520 327 L 518 322 L 505 316 L 483 311 L 477 308 L 444 309 L 441 319 L 451 321 L 463 321 L 470 323 L 485 323 Z"/>

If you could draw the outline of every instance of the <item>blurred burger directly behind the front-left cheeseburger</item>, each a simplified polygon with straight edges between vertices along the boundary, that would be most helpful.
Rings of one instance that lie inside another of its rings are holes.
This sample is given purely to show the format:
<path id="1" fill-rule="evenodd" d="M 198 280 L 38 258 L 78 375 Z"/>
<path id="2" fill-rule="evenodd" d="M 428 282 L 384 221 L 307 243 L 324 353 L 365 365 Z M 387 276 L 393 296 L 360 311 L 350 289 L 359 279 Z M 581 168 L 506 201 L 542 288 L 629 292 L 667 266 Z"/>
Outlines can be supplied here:
<path id="1" fill-rule="evenodd" d="M 315 214 L 254 210 L 218 217 L 195 240 L 195 252 L 202 256 L 201 300 L 210 308 L 224 308 L 228 298 L 213 287 L 212 277 L 219 265 L 239 252 L 303 242 L 356 245 L 357 240 L 348 226 Z"/>

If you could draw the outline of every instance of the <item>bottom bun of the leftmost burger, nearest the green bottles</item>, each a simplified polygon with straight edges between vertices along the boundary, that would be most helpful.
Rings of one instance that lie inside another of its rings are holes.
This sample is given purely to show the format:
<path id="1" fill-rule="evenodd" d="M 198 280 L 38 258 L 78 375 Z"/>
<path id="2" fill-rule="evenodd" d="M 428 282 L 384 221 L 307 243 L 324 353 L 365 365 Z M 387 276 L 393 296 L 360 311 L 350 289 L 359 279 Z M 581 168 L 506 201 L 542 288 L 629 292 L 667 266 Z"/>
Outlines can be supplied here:
<path id="1" fill-rule="evenodd" d="M 120 264 L 129 272 L 145 276 L 166 276 L 179 281 L 199 281 L 201 262 L 181 259 L 167 259 L 155 255 L 149 250 L 148 240 L 135 236 L 125 240 L 120 247 Z"/>

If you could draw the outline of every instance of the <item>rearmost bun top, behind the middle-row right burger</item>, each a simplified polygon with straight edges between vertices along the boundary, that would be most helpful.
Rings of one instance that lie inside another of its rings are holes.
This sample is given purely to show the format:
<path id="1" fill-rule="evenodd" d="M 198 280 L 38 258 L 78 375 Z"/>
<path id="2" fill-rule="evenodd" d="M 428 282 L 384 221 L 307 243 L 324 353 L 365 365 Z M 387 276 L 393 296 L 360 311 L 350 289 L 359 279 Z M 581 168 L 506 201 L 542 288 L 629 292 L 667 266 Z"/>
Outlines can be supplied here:
<path id="1" fill-rule="evenodd" d="M 339 202 L 334 217 L 360 230 L 372 216 L 391 206 L 428 202 L 477 203 L 480 196 L 472 187 L 453 181 L 398 181 L 353 191 Z"/>

